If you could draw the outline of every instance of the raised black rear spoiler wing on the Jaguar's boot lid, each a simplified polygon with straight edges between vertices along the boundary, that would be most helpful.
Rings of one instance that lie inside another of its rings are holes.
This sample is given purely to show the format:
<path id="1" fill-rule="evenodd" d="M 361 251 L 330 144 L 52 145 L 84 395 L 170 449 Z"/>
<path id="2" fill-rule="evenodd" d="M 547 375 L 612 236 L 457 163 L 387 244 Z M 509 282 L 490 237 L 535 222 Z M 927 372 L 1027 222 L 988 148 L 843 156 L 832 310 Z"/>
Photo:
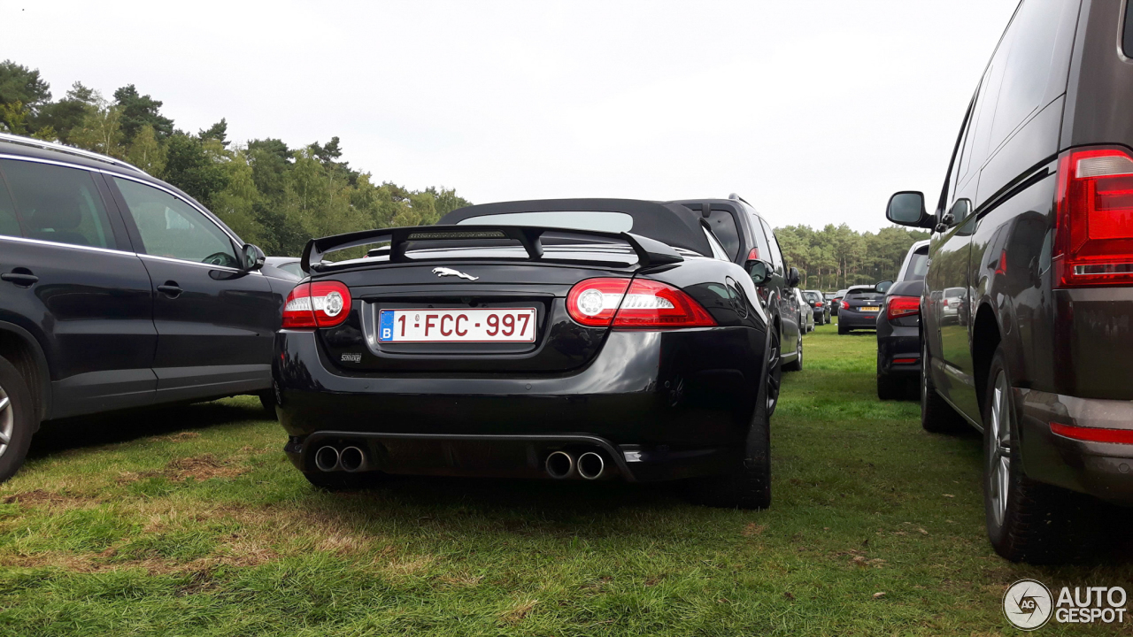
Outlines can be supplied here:
<path id="1" fill-rule="evenodd" d="M 603 232 L 599 230 L 576 230 L 572 228 L 544 228 L 537 226 L 409 226 L 404 228 L 383 228 L 381 230 L 361 230 L 334 235 L 307 241 L 303 248 L 303 271 L 308 274 L 314 269 L 322 270 L 323 255 L 369 244 L 390 241 L 389 263 L 416 263 L 428 258 L 409 258 L 406 256 L 408 244 L 412 241 L 500 241 L 514 239 L 519 241 L 531 261 L 543 258 L 540 239 L 545 232 L 555 235 L 577 235 L 606 240 L 625 243 L 637 254 L 638 267 L 665 265 L 684 261 L 672 246 L 661 241 L 632 235 L 630 232 Z"/>

